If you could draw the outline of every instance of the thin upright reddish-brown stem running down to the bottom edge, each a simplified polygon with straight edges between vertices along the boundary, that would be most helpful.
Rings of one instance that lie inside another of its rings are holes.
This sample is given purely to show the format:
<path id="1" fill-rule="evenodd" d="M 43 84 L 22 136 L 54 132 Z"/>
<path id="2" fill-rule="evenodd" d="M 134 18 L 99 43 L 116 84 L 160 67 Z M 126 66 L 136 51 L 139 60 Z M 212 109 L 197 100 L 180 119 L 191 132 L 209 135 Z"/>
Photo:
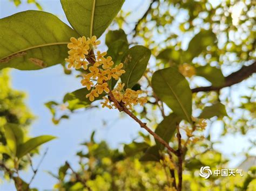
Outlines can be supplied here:
<path id="1" fill-rule="evenodd" d="M 177 125 L 177 138 L 178 138 L 178 177 L 179 177 L 179 183 L 178 183 L 178 191 L 181 191 L 182 188 L 182 155 L 183 150 L 181 147 L 181 135 L 179 132 L 179 125 Z"/>

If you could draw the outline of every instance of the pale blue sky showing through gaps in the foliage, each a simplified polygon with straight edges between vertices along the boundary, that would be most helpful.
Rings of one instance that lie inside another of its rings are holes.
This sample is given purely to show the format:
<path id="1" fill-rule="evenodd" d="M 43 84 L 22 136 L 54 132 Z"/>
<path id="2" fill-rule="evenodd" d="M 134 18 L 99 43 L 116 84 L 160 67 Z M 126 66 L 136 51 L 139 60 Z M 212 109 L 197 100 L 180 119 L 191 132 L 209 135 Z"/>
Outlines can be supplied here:
<path id="1" fill-rule="evenodd" d="M 42 0 L 39 2 L 42 4 L 44 11 L 57 15 L 64 22 L 67 21 L 58 0 Z M 129 0 L 125 2 L 123 9 L 128 11 L 136 10 L 136 12 L 133 12 L 133 16 L 130 17 L 131 21 L 136 21 L 137 18 L 143 15 L 149 2 Z M 1 0 L 0 18 L 29 9 L 37 10 L 33 4 L 22 4 L 16 8 L 8 0 Z M 35 186 L 39 190 L 52 189 L 56 183 L 56 180 L 45 173 L 45 171 L 56 173 L 58 167 L 63 165 L 66 160 L 70 161 L 73 167 L 78 167 L 78 158 L 75 154 L 83 148 L 79 144 L 88 140 L 93 130 L 97 131 L 96 140 L 104 139 L 112 147 L 118 147 L 122 143 L 131 142 L 132 139 L 137 137 L 138 131 L 140 131 L 139 126 L 132 119 L 123 115 L 120 118 L 117 110 L 108 109 L 81 111 L 72 115 L 69 120 L 63 120 L 57 126 L 53 125 L 51 114 L 44 106 L 44 103 L 51 100 L 61 101 L 66 93 L 80 88 L 79 80 L 73 76 L 64 75 L 63 69 L 60 66 L 35 71 L 13 69 L 11 70 L 11 76 L 13 87 L 27 93 L 26 102 L 33 114 L 37 116 L 36 121 L 31 126 L 31 136 L 53 135 L 58 137 L 58 139 L 42 147 L 42 153 L 46 147 L 49 148 L 49 151 L 32 183 L 32 187 Z M 106 125 L 104 125 L 104 121 L 107 122 Z M 221 131 L 221 124 L 217 123 L 214 126 L 213 136 L 217 139 L 218 132 Z M 211 132 L 212 129 L 208 131 Z M 248 147 L 246 142 L 247 137 L 244 136 L 227 136 L 223 139 L 219 149 L 228 156 L 232 152 L 239 152 Z M 35 157 L 33 163 L 36 165 L 39 159 L 41 159 L 40 156 Z M 233 163 L 238 164 L 241 160 L 241 157 L 233 158 Z M 30 171 L 24 172 L 21 176 L 24 180 L 29 181 L 32 173 Z M 5 182 L 3 185 L 0 185 L 0 190 L 14 189 L 14 186 L 10 183 Z"/>

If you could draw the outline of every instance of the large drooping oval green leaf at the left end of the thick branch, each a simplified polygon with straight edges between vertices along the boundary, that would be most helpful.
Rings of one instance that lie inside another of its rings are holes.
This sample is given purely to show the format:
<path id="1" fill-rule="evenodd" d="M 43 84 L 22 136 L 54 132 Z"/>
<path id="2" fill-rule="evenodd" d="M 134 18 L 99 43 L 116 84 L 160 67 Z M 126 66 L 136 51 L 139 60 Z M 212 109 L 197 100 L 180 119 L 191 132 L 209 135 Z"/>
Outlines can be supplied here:
<path id="1" fill-rule="evenodd" d="M 175 114 L 191 123 L 192 93 L 185 77 L 174 67 L 160 69 L 152 76 L 154 93 Z"/>

